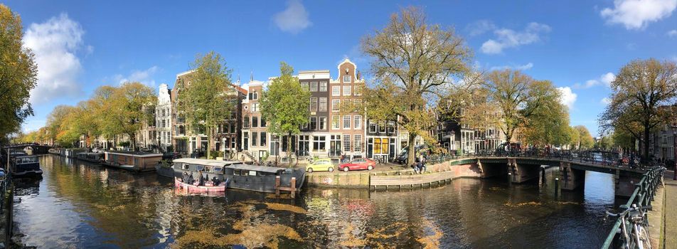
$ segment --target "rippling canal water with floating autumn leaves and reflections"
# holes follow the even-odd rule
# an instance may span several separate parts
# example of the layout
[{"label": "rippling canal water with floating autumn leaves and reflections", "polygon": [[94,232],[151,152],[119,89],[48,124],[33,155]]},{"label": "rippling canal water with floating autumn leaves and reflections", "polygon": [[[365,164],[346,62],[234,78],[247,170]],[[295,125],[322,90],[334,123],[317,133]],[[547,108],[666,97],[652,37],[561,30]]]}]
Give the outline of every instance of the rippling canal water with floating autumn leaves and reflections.
[{"label": "rippling canal water with floating autumn leaves and reflections", "polygon": [[183,196],[171,179],[41,157],[16,187],[14,240],[38,248],[599,248],[613,225],[611,175],[555,197],[538,181],[457,179],[433,189],[306,188],[296,199]]}]

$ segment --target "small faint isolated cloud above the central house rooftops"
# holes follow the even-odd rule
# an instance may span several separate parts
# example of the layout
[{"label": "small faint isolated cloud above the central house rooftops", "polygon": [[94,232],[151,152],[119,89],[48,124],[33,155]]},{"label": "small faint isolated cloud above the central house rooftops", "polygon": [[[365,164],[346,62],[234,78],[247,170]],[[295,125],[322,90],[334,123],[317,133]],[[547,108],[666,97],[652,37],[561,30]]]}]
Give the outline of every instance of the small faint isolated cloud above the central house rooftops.
[{"label": "small faint isolated cloud above the central house rooftops", "polygon": [[308,19],[308,11],[301,4],[301,0],[287,1],[287,9],[273,16],[273,21],[279,29],[289,33],[299,33],[313,25]]}]

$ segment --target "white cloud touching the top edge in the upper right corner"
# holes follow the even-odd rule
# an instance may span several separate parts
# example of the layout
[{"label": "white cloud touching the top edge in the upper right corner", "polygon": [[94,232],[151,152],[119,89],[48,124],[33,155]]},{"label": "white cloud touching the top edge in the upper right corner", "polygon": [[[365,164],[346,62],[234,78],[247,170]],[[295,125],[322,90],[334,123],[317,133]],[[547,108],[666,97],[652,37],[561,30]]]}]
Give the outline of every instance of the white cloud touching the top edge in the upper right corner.
[{"label": "white cloud touching the top edge in the upper right corner", "polygon": [[670,16],[676,8],[677,0],[614,0],[614,9],[604,8],[599,14],[607,23],[641,29],[652,21]]}]

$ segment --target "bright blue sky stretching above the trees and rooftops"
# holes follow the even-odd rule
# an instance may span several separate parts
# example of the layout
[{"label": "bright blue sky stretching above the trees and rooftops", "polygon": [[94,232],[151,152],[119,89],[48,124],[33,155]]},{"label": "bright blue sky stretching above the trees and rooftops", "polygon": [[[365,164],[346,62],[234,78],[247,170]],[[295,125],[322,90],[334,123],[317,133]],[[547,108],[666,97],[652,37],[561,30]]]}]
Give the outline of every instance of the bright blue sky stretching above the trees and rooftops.
[{"label": "bright blue sky stretching above the trees and rooftops", "polygon": [[[677,60],[677,0],[602,1],[9,1],[36,53],[38,129],[55,105],[75,105],[100,85],[174,85],[197,53],[216,51],[233,80],[329,69],[351,58],[368,70],[361,37],[390,14],[420,6],[453,27],[483,70],[518,68],[565,93],[571,124],[597,134],[607,83],[637,58]],[[334,76],[335,77],[335,76]]]}]

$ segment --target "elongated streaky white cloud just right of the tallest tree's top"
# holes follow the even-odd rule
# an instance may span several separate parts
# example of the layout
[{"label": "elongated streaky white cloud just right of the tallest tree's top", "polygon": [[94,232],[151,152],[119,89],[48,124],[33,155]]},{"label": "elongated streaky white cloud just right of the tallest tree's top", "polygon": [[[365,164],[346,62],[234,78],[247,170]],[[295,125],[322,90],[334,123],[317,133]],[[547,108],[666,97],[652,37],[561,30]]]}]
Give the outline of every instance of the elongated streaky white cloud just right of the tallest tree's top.
[{"label": "elongated streaky white cloud just right of the tallest tree's top", "polygon": [[543,33],[550,32],[548,25],[541,23],[529,23],[523,31],[513,31],[508,28],[501,28],[494,31],[496,40],[489,39],[482,43],[482,53],[495,54],[503,52],[504,48],[514,48],[540,41]]}]

